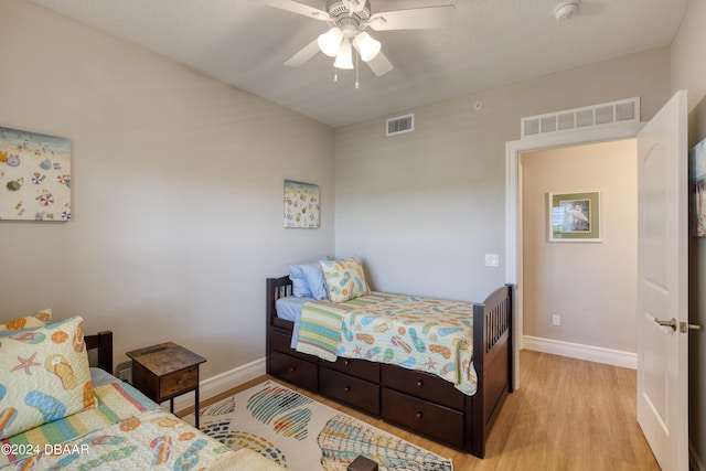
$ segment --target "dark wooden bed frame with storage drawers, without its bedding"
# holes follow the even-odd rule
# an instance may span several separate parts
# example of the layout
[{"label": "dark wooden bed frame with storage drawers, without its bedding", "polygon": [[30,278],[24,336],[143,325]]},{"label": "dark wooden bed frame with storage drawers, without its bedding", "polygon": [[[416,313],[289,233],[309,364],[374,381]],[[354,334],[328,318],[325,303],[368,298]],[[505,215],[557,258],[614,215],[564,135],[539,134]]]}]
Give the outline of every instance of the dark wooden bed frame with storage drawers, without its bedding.
[{"label": "dark wooden bed frame with storage drawers, without its bedding", "polygon": [[289,277],[267,279],[267,373],[376,418],[478,458],[512,393],[513,286],[473,304],[473,365],[478,392],[466,396],[429,373],[365,360],[319,360],[290,347],[293,322],[277,317],[275,302],[291,296]]}]

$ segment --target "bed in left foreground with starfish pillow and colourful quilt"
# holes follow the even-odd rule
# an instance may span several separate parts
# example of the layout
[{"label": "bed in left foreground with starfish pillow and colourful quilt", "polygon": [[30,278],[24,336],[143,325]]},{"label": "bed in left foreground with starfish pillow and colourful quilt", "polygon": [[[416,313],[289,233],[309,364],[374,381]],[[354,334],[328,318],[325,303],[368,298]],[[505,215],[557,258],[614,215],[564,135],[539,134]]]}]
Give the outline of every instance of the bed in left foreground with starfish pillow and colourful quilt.
[{"label": "bed in left foreground with starfish pillow and colourful quilt", "polygon": [[[111,332],[84,338],[81,317],[45,324],[50,318],[45,310],[0,330],[0,469],[280,469],[110,375]],[[88,366],[93,349],[99,368]]]}]

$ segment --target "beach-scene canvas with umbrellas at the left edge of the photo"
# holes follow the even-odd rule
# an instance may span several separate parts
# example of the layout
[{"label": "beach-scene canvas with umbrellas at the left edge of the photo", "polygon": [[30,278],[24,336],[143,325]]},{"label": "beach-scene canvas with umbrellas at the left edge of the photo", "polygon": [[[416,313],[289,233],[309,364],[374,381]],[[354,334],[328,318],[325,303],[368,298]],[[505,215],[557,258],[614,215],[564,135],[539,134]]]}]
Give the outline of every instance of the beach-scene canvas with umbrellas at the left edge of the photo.
[{"label": "beach-scene canvas with umbrellas at the left edge of the photo", "polygon": [[0,220],[71,220],[71,140],[0,127]]}]

